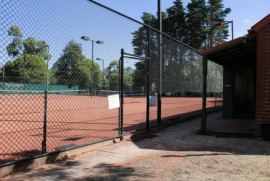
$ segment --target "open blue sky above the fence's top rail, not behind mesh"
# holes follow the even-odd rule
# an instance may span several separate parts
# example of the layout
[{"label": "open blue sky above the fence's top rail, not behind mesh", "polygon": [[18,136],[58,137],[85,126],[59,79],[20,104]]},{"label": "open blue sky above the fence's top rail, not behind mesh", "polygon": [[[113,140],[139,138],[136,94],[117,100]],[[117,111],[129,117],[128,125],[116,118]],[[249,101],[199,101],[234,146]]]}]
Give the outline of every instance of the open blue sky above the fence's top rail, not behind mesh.
[{"label": "open blue sky above the fence's top rail, not behind mesh", "polygon": [[[173,5],[174,0],[161,0],[162,11]],[[207,0],[206,0],[207,1]],[[96,0],[137,21],[141,21],[142,12],[156,14],[157,0]],[[190,0],[182,0],[186,6]],[[233,38],[247,34],[247,29],[270,13],[270,0],[223,0],[225,8],[231,8],[226,21],[233,20]],[[231,40],[231,24],[229,24],[228,40]]]}]

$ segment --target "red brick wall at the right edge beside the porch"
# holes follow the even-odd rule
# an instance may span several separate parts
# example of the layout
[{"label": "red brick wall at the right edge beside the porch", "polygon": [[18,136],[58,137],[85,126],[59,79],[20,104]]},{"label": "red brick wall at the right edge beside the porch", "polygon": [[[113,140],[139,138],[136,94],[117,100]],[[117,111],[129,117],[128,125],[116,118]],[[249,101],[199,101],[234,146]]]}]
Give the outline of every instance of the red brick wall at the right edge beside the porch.
[{"label": "red brick wall at the right edge beside the porch", "polygon": [[261,123],[270,123],[270,24],[257,32],[255,135],[261,134]]}]

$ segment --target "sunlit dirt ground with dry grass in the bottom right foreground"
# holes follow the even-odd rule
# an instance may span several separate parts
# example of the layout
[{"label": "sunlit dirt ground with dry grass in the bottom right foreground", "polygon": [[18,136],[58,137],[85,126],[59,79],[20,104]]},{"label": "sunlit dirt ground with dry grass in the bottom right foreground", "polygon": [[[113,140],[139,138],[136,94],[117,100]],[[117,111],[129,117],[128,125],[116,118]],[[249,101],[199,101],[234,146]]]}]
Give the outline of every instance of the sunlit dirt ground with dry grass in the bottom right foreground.
[{"label": "sunlit dirt ground with dry grass in the bottom right foreground", "polygon": [[[219,149],[219,150],[218,150]],[[217,148],[214,152],[162,151],[114,165],[83,181],[270,180],[270,156],[264,152]]]}]

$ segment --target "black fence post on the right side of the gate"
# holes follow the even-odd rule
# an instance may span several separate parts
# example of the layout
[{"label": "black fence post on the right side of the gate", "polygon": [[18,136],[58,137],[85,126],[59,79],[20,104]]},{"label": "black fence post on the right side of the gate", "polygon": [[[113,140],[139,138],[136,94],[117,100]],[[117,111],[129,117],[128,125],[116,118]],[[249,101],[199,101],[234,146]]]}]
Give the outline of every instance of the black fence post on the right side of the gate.
[{"label": "black fence post on the right side of the gate", "polygon": [[149,112],[150,112],[150,28],[148,28],[148,61],[147,61],[147,106],[146,106],[146,129],[149,133]]}]

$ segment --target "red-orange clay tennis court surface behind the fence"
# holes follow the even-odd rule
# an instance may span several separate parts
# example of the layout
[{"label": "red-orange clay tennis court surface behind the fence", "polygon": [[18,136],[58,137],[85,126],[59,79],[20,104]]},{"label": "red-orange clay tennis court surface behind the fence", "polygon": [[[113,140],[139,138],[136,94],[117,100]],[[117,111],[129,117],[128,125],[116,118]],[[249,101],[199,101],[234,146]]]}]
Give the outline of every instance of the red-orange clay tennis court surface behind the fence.
[{"label": "red-orange clay tennis court surface behind the fence", "polygon": [[[146,129],[146,96],[124,102],[124,133]],[[222,98],[207,98],[208,110],[215,102],[222,106]],[[202,98],[162,97],[161,108],[162,118],[184,118],[201,113]],[[0,110],[0,164],[41,154],[44,94],[2,94]],[[150,127],[156,117],[157,107],[150,107]],[[106,96],[48,94],[46,151],[118,136],[118,124],[118,108],[109,110]]]}]

